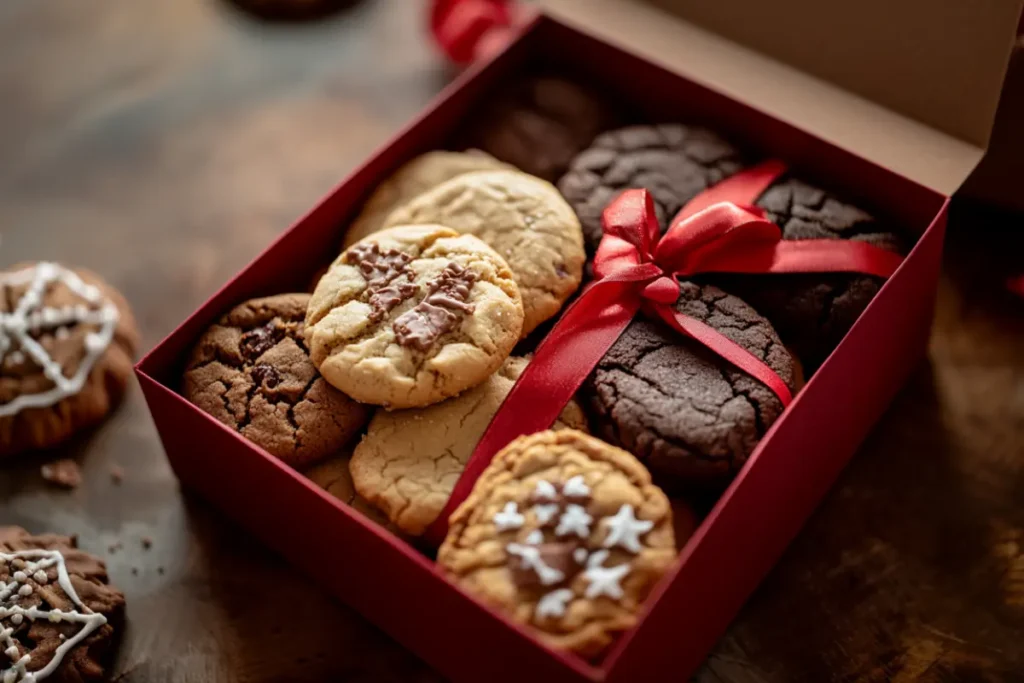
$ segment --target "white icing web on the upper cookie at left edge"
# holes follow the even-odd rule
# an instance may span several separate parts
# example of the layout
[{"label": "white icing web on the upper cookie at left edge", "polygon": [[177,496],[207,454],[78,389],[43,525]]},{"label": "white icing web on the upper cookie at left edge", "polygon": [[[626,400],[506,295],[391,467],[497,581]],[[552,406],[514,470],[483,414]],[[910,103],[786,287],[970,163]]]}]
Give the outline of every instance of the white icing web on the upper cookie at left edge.
[{"label": "white icing web on the upper cookie at left edge", "polygon": [[[62,284],[83,299],[102,305],[98,309],[83,304],[59,309],[39,309],[46,289],[54,283]],[[113,303],[102,301],[102,296],[95,287],[86,285],[77,273],[55,263],[37,263],[35,266],[0,275],[0,286],[26,285],[29,289],[22,295],[14,310],[10,313],[0,313],[0,361],[16,342],[18,348],[10,351],[11,360],[18,362],[15,360],[18,357],[15,354],[28,355],[42,369],[43,374],[53,382],[54,386],[39,393],[15,396],[13,400],[0,405],[0,417],[16,415],[26,408],[46,408],[81,391],[96,359],[111,345],[118,322],[117,308]],[[65,377],[60,364],[53,360],[42,344],[32,336],[56,328],[57,337],[60,338],[60,330],[66,325],[98,327],[96,332],[86,336],[85,355],[73,377]]]}]

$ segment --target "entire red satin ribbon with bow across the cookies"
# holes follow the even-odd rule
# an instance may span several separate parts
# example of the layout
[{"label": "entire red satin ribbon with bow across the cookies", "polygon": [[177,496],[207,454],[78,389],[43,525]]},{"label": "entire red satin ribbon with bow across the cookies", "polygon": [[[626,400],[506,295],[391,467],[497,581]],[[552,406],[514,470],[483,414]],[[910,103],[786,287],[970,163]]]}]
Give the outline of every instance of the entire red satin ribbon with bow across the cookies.
[{"label": "entire red satin ribbon with bow across the cookies", "polygon": [[594,257],[596,282],[565,309],[538,347],[477,444],[437,520],[427,530],[439,543],[447,519],[469,495],[495,454],[523,434],[549,428],[620,335],[643,310],[767,385],[787,405],[785,382],[767,365],[714,328],[674,308],[678,279],[707,272],[860,272],[891,275],[897,254],[840,240],[786,242],[753,204],[785,172],[779,162],[746,169],[709,188],[659,237],[654,204],[629,189],[602,215],[604,237]]}]

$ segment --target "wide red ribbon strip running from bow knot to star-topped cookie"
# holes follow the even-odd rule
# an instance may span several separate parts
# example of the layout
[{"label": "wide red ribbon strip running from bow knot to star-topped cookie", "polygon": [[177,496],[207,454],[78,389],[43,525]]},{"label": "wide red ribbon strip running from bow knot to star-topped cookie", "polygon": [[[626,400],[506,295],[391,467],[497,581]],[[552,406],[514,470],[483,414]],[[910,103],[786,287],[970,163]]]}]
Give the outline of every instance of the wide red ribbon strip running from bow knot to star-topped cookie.
[{"label": "wide red ribbon strip running from bow knot to star-topped cookie", "polygon": [[634,283],[599,281],[565,310],[483,432],[444,509],[427,528],[428,542],[440,545],[449,517],[499,451],[554,424],[639,309]]}]

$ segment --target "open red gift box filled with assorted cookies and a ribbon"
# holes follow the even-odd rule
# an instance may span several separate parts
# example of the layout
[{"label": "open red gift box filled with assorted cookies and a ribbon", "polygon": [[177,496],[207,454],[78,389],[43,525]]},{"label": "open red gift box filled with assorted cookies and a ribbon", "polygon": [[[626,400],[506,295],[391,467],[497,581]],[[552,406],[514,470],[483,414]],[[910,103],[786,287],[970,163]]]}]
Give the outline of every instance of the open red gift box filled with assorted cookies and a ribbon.
[{"label": "open red gift box filled with assorted cookies and a ribbon", "polygon": [[186,486],[454,680],[685,678],[926,348],[1019,3],[959,123],[683,4],[527,10],[137,368]]}]

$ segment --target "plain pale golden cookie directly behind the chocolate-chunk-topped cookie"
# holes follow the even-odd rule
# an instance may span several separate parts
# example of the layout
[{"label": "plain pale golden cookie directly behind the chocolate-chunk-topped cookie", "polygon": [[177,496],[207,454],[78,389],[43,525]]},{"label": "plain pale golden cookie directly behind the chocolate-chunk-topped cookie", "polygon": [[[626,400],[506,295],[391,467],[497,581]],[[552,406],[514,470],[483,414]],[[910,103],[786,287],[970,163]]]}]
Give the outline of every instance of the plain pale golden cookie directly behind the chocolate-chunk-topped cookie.
[{"label": "plain pale golden cookie directly behind the chocolate-chunk-topped cookie", "polygon": [[580,287],[580,220],[554,185],[518,171],[464,173],[395,209],[386,225],[439,223],[475,234],[508,261],[522,295],[523,336]]}]

